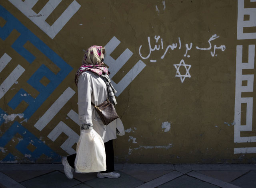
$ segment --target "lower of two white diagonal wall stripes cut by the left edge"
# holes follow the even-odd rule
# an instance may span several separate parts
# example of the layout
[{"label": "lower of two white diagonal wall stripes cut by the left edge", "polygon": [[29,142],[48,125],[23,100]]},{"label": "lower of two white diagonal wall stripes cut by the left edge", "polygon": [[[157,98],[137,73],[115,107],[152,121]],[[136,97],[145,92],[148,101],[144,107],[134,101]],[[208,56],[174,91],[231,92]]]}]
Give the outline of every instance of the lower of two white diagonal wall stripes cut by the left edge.
[{"label": "lower of two white diagonal wall stripes cut by the left edge", "polygon": [[25,69],[18,65],[9,76],[0,85],[0,98],[6,94],[6,92],[12,87],[12,85],[18,80],[18,78],[23,74]]}]

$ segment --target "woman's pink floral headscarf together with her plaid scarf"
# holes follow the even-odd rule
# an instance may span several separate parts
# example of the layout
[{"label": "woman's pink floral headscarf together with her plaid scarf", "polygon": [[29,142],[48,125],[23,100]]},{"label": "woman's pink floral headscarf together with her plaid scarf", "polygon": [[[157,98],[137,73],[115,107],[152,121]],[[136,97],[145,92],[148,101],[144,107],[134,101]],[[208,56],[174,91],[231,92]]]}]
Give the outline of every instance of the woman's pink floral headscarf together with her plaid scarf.
[{"label": "woman's pink floral headscarf together with her plaid scarf", "polygon": [[117,104],[115,93],[117,92],[114,87],[112,86],[111,80],[109,78],[110,72],[106,66],[100,66],[101,59],[103,58],[102,55],[102,46],[91,46],[84,54],[83,58],[83,65],[76,71],[75,75],[75,84],[78,84],[78,78],[84,71],[91,71],[95,74],[98,74],[100,77],[103,78],[107,89],[108,89],[108,99],[114,105]]}]

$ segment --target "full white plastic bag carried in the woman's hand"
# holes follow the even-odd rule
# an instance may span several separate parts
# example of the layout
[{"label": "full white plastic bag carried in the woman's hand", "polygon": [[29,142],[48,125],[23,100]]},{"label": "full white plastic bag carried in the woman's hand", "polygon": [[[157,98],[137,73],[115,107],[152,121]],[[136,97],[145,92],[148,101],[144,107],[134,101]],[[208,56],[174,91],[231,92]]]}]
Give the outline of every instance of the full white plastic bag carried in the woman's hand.
[{"label": "full white plastic bag carried in the woman's hand", "polygon": [[82,130],[76,145],[75,172],[106,170],[106,153],[102,138],[94,129]]}]

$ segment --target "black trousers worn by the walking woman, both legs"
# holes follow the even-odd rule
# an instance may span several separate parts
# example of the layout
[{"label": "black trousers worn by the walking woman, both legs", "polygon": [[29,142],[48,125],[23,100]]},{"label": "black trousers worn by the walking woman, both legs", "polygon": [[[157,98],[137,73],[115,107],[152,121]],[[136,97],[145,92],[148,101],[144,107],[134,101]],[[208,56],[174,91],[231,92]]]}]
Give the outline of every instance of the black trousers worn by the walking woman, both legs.
[{"label": "black trousers worn by the walking woman, both legs", "polygon": [[[110,140],[106,143],[104,143],[105,146],[105,153],[106,153],[106,166],[107,170],[103,171],[102,173],[108,173],[113,172],[114,169],[114,148],[113,148],[113,140]],[[72,168],[75,168],[75,159],[76,159],[76,153],[73,155],[69,155],[67,157],[68,164],[72,166]]]}]

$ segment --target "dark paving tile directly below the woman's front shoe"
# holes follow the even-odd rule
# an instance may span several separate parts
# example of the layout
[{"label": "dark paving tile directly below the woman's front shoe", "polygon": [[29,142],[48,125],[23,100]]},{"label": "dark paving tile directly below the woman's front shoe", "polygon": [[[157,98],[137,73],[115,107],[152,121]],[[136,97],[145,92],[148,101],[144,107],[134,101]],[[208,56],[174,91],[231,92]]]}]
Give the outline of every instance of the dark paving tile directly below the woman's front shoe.
[{"label": "dark paving tile directly below the woman's front shoe", "polygon": [[[118,171],[120,172],[120,171]],[[96,178],[93,180],[89,180],[87,182],[84,182],[84,184],[89,185],[91,187],[95,188],[134,188],[136,186],[139,186],[140,184],[143,184],[143,181],[138,180],[132,176],[129,176],[128,174],[125,174],[123,172],[120,172],[121,177],[116,179],[111,178]]]}]

